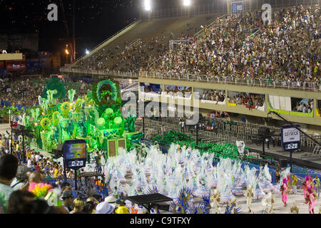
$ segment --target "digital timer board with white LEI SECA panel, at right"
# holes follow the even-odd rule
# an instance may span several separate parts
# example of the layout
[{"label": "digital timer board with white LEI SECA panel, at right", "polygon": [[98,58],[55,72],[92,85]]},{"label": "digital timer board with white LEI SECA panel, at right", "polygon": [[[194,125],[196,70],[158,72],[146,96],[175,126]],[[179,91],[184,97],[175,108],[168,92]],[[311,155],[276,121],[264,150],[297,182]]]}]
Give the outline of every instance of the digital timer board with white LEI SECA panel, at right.
[{"label": "digital timer board with white LEI SECA panel, at right", "polygon": [[[295,125],[300,129],[300,125]],[[282,126],[281,128],[281,143],[282,150],[298,150],[300,149],[301,133],[297,128],[290,125]]]}]

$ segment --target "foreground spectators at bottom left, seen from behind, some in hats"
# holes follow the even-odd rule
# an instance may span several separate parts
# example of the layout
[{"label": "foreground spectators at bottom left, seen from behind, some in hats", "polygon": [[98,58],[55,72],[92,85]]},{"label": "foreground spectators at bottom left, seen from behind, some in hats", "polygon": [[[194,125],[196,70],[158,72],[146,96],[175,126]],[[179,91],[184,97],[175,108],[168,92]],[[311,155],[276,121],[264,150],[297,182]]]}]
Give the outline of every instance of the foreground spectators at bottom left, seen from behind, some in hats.
[{"label": "foreground spectators at bottom left, seen from behind, some in hats", "polygon": [[[89,190],[86,195],[80,195],[79,192],[77,195],[70,182],[63,182],[61,179],[55,184],[49,183],[49,177],[46,175],[49,175],[51,170],[54,170],[52,175],[59,180],[61,175],[59,164],[44,159],[38,153],[34,154],[32,161],[27,165],[19,164],[19,159],[14,155],[0,156],[0,214],[150,213],[141,205],[126,201],[121,192],[114,192],[113,196],[105,198]],[[44,165],[42,171],[41,164]],[[36,169],[34,169],[35,165]],[[101,185],[99,180],[96,181],[97,183]],[[53,203],[51,199],[47,199],[50,194],[54,195]],[[157,208],[152,209],[152,212],[159,213]]]}]

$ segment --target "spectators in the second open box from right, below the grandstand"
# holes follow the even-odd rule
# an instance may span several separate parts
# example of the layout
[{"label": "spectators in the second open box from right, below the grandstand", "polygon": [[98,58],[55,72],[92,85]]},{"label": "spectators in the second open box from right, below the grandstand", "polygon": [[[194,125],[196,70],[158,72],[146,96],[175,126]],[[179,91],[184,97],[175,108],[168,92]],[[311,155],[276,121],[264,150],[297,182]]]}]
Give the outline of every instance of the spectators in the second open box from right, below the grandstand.
[{"label": "spectators in the second open box from right, below the grandstand", "polygon": [[228,97],[230,103],[237,105],[250,105],[250,107],[263,107],[265,104],[265,95],[255,94],[255,93],[238,93],[233,97]]}]

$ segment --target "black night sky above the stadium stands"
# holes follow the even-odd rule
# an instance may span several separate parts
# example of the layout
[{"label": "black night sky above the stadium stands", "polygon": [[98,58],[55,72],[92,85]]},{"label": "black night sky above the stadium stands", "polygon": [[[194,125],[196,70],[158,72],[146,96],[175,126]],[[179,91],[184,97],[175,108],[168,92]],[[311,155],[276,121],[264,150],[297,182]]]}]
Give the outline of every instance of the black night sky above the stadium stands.
[{"label": "black night sky above the stadium stands", "polygon": [[[183,0],[151,0],[153,8],[181,5]],[[193,0],[203,4],[213,0]],[[51,3],[58,21],[48,21]],[[76,0],[78,56],[139,18],[143,0]],[[73,0],[0,0],[0,33],[39,33],[39,51],[61,51],[73,36]]]}]

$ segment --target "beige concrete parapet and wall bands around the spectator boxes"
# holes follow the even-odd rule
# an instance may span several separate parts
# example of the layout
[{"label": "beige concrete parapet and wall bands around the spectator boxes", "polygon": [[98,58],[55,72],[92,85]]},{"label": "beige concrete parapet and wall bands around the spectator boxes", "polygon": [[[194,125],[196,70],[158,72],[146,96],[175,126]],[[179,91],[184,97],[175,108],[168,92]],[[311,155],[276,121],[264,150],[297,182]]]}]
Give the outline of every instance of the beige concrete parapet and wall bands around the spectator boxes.
[{"label": "beige concrete parapet and wall bands around the spectator boxes", "polygon": [[[288,90],[288,89],[277,89],[277,88],[263,88],[263,87],[252,87],[252,86],[237,86],[237,85],[226,85],[226,84],[214,84],[214,83],[205,83],[205,82],[195,82],[195,81],[177,81],[177,80],[163,80],[158,78],[139,78],[141,83],[154,83],[160,85],[172,85],[172,86],[185,86],[192,88],[208,88],[213,90],[225,90],[226,94],[228,91],[238,91],[245,93],[260,93],[265,94],[265,100],[267,101],[268,95],[281,95],[281,96],[290,96],[294,98],[313,98],[315,100],[320,100],[321,93],[319,91],[312,92],[307,90]],[[141,97],[140,97],[141,98]],[[152,98],[145,98],[146,100],[153,100]],[[175,103],[178,104],[178,100],[171,100],[169,98],[161,98],[162,102],[165,103]],[[195,100],[190,101],[190,105],[194,106]],[[267,102],[265,102],[267,103]],[[228,113],[238,113],[239,115],[233,116],[236,120],[242,120],[245,117],[247,120],[251,120],[255,123],[260,123],[264,125],[282,125],[281,119],[276,115],[269,115],[272,118],[271,121],[268,121],[267,114],[269,113],[267,104],[265,104],[265,111],[260,110],[249,110],[245,105],[237,105],[236,107],[230,107],[228,103],[225,105],[215,105],[211,103],[199,103],[199,108],[201,110],[220,110]],[[316,108],[317,105],[314,105]],[[208,113],[206,112],[206,113]],[[314,110],[315,112],[315,110]],[[315,114],[315,113],[314,113]],[[297,115],[282,115],[287,120],[293,123],[300,123],[302,128],[304,128],[308,133],[321,133],[321,118],[314,115],[313,118],[297,116]],[[283,123],[284,124],[284,123]]]}]

